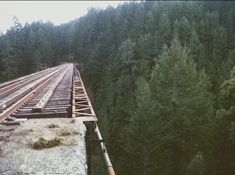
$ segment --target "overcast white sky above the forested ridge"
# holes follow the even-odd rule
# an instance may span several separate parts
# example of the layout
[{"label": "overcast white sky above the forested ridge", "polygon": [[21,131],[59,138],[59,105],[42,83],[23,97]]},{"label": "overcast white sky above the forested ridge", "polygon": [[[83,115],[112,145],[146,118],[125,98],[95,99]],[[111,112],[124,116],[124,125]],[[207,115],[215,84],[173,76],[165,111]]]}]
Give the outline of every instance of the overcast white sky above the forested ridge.
[{"label": "overcast white sky above the forested ridge", "polygon": [[90,7],[116,7],[122,1],[0,1],[0,32],[13,25],[13,16],[25,24],[33,21],[51,21],[54,24],[69,22],[87,13]]}]

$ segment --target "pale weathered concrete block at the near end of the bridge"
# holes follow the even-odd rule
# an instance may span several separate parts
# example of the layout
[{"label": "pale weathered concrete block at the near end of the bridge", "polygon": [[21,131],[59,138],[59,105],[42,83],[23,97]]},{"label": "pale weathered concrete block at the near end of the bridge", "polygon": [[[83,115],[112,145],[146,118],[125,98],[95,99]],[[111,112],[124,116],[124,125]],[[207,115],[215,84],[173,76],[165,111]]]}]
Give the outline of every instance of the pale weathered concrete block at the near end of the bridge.
[{"label": "pale weathered concrete block at the near end of the bridge", "polygon": [[[86,128],[78,118],[32,119],[13,129],[0,126],[1,175],[87,174]],[[34,147],[40,138],[59,144]]]}]

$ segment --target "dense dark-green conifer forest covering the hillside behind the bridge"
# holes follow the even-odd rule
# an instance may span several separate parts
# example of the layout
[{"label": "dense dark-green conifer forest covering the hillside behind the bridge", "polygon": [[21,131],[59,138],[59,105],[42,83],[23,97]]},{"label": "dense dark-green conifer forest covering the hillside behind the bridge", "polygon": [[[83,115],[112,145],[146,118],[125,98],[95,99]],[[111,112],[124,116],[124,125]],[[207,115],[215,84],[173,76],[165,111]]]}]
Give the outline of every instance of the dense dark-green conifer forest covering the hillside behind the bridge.
[{"label": "dense dark-green conifer forest covering the hillside behind the bridge", "polygon": [[14,21],[0,36],[0,82],[78,63],[117,174],[235,174],[235,2],[124,2],[59,26]]}]

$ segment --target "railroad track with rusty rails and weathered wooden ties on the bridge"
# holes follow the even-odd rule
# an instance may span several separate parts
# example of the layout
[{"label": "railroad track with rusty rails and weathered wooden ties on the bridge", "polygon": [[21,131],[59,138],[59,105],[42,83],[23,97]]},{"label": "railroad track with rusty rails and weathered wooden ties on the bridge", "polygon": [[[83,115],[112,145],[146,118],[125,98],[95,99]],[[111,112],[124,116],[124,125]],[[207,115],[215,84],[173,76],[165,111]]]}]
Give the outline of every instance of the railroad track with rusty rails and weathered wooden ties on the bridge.
[{"label": "railroad track with rusty rails and weathered wooden ties on the bridge", "polygon": [[0,84],[0,122],[14,123],[7,121],[12,117],[66,117],[72,73],[73,65],[64,64]]}]

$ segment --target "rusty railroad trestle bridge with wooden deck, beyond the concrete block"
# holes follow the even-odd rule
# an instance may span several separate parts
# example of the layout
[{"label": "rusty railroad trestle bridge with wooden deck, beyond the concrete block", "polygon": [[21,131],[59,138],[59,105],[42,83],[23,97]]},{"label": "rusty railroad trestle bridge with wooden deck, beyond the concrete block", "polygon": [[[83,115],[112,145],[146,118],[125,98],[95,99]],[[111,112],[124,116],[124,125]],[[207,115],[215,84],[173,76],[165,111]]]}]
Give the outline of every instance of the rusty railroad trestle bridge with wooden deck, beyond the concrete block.
[{"label": "rusty railroad trestle bridge with wooden deck, beyond the concrete block", "polygon": [[[5,133],[10,130],[11,135],[9,134],[7,137],[13,136],[17,127],[20,128],[30,120],[46,121],[51,118],[78,119],[86,126],[84,135],[86,143],[82,146],[86,150],[86,173],[88,175],[91,174],[93,135],[96,135],[99,141],[107,174],[115,174],[97,124],[98,119],[81,75],[74,64],[62,64],[0,84],[0,122],[5,127],[0,128],[0,132]],[[9,129],[11,126],[16,127]],[[36,127],[40,127],[40,125]],[[2,140],[2,144],[4,144],[4,138]],[[1,149],[0,137],[0,151]],[[10,171],[9,168],[8,171]],[[73,172],[73,174],[79,173]]]}]

